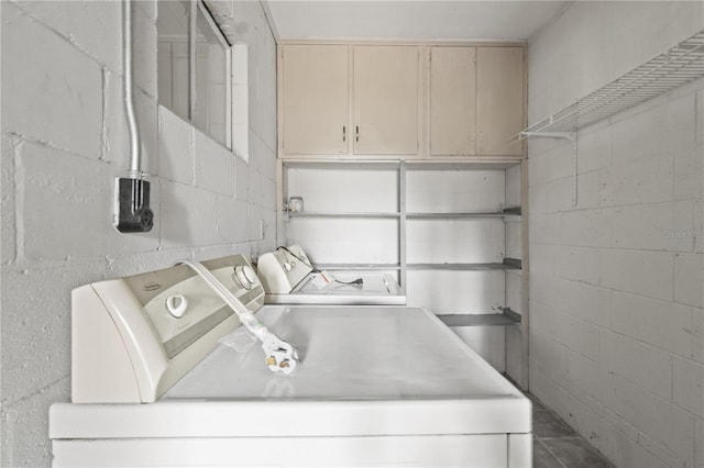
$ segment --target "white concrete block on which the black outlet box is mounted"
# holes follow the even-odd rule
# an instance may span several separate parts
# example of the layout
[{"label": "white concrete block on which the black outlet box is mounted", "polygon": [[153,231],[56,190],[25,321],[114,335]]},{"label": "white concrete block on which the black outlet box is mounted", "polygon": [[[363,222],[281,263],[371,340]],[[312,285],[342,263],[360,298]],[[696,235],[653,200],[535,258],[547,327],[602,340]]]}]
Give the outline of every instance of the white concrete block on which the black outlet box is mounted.
[{"label": "white concrete block on which the black outlet box is mounted", "polygon": [[[158,216],[148,233],[125,236],[114,229],[117,175],[111,165],[28,143],[21,147],[18,169],[23,197],[18,225],[25,258],[101,257],[158,246]],[[158,213],[158,183],[151,186],[151,205]]]}]

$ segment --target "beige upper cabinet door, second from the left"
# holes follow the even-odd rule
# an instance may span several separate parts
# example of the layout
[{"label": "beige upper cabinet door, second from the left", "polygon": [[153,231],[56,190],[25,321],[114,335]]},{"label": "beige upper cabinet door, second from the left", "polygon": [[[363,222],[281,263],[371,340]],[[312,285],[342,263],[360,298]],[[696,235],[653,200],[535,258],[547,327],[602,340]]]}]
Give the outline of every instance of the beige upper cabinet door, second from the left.
[{"label": "beige upper cabinet door, second from the left", "polygon": [[354,47],[354,154],[418,154],[419,48]]}]

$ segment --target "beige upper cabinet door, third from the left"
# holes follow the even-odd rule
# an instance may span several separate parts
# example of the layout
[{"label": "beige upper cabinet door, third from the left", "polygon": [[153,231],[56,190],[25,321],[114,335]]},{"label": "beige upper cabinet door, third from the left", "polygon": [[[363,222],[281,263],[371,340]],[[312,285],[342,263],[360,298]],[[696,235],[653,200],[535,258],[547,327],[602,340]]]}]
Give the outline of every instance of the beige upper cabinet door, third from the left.
[{"label": "beige upper cabinet door, third from the left", "polygon": [[430,49],[430,155],[475,153],[476,47]]}]

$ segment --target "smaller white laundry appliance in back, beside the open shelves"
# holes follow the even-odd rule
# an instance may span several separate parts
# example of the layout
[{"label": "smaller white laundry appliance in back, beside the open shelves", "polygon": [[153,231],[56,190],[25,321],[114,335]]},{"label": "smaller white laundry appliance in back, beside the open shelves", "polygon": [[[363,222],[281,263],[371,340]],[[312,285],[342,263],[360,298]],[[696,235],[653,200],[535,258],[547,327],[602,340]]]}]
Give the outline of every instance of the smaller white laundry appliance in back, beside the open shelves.
[{"label": "smaller white laundry appliance in back, beside the open shelves", "polygon": [[299,245],[261,255],[257,274],[266,304],[406,305],[406,292],[393,276],[320,271]]}]

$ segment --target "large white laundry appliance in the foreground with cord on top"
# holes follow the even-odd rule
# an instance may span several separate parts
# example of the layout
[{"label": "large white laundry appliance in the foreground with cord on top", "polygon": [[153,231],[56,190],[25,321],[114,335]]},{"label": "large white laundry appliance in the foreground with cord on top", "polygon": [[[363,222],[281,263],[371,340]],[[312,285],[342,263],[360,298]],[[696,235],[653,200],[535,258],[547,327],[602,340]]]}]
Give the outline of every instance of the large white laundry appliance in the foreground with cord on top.
[{"label": "large white laundry appliance in the foreground with cord on top", "polygon": [[[50,410],[54,466],[531,465],[530,401],[433,314],[261,307],[243,257],[202,265],[74,291],[73,402]],[[268,336],[262,347],[240,320]],[[297,359],[293,372],[277,352]]]}]

